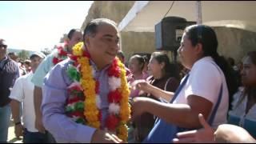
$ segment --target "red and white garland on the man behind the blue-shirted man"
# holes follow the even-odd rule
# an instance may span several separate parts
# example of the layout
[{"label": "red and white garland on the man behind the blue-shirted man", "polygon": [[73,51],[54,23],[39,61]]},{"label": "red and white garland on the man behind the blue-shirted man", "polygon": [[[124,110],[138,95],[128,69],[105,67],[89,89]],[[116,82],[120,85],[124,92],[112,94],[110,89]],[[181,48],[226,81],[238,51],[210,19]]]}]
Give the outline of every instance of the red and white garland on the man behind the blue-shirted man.
[{"label": "red and white garland on the man behind the blue-shirted man", "polygon": [[64,42],[63,46],[57,46],[58,54],[53,58],[53,64],[56,65],[58,62],[62,62],[67,58],[67,43]]}]

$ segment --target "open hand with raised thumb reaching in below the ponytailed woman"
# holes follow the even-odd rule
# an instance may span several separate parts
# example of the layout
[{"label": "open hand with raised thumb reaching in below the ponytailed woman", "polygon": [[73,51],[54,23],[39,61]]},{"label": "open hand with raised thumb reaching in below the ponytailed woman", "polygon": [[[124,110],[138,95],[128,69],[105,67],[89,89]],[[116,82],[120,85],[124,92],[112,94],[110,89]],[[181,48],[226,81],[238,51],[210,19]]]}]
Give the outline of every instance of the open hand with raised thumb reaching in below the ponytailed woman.
[{"label": "open hand with raised thumb reaching in below the ponytailed woman", "polygon": [[200,123],[203,129],[190,130],[177,134],[178,138],[174,138],[174,143],[187,143],[187,142],[214,142],[214,129],[206,122],[202,114],[198,114]]}]

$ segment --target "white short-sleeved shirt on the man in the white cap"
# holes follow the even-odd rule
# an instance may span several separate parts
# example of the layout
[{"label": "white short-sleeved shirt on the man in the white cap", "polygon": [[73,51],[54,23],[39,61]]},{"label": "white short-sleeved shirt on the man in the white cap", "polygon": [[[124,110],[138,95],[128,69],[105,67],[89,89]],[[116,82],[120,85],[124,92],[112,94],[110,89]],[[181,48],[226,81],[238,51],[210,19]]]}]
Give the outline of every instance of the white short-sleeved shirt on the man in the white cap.
[{"label": "white short-sleeved shirt on the man in the white cap", "polygon": [[31,82],[32,77],[32,72],[19,77],[10,92],[10,98],[23,102],[22,122],[24,127],[30,132],[38,132],[34,127],[34,84]]}]

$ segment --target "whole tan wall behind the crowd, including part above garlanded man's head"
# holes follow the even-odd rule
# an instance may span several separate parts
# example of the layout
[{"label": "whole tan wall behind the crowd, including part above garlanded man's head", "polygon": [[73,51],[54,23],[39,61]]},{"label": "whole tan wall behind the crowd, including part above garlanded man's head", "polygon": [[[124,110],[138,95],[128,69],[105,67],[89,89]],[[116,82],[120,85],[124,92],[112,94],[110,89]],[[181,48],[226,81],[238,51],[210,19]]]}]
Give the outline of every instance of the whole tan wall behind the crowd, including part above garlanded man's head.
[{"label": "whole tan wall behind the crowd, including part above garlanded man's head", "polygon": [[[125,17],[134,1],[97,1],[90,7],[85,22],[82,24],[82,30],[86,23],[94,18],[110,18],[119,23]],[[256,50],[256,33],[228,28],[214,27],[218,37],[218,52],[225,57],[232,57],[236,62],[250,50]],[[121,33],[122,51],[126,60],[134,53],[152,53],[155,51],[154,33]]]}]

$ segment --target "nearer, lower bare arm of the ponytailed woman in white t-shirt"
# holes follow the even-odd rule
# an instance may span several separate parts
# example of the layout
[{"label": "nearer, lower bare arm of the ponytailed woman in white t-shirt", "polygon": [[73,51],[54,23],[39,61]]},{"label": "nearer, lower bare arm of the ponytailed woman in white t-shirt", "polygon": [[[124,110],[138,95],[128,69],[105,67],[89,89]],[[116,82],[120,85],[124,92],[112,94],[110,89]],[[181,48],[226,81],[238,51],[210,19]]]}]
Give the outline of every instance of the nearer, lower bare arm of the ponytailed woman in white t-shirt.
[{"label": "nearer, lower bare arm of the ponytailed woman in white t-shirt", "polygon": [[213,104],[196,95],[188,96],[188,104],[170,104],[157,102],[150,98],[134,98],[132,104],[132,120],[138,115],[148,112],[166,122],[185,128],[199,128],[201,124],[198,114],[208,118]]}]

